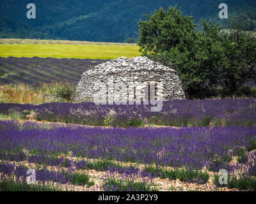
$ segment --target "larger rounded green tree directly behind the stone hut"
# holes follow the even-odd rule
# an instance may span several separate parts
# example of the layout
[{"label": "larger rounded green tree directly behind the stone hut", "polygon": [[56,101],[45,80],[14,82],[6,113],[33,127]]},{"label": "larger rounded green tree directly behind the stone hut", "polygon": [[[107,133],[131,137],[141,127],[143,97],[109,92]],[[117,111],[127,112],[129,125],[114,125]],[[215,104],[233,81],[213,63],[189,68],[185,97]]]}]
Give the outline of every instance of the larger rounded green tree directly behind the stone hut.
[{"label": "larger rounded green tree directly behind the stone hut", "polygon": [[202,22],[204,31],[196,32],[193,17],[182,15],[177,6],[160,8],[139,22],[140,52],[175,68],[188,98],[211,96],[224,53],[220,27]]}]

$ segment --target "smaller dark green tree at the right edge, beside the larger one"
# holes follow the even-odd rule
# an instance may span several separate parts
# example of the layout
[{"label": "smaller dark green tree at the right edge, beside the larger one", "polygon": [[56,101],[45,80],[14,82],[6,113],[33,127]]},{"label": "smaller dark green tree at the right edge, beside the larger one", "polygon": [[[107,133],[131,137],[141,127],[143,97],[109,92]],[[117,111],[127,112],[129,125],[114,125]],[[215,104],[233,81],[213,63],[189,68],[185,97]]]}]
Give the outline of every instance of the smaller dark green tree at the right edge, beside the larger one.
[{"label": "smaller dark green tree at the right edge, beside the larger one", "polygon": [[[226,96],[241,94],[248,80],[256,82],[256,38],[241,25],[223,33],[225,56],[220,68],[220,84]],[[239,93],[240,92],[240,93]],[[246,94],[246,93],[245,93]]]}]

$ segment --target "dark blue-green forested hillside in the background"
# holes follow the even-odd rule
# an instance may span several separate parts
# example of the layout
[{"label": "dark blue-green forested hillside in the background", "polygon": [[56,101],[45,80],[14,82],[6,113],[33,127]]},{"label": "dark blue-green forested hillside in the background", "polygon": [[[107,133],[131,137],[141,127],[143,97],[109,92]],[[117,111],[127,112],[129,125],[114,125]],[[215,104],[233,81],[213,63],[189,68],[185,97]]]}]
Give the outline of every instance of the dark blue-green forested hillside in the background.
[{"label": "dark blue-green forested hillside in the background", "polygon": [[[28,19],[26,5],[36,5],[36,19]],[[228,19],[218,18],[218,5],[228,5]],[[200,18],[228,28],[238,20],[256,31],[256,1],[252,0],[1,0],[0,38],[40,38],[132,43],[138,39],[138,22],[161,6],[178,5],[184,15],[193,15],[198,29]]]}]

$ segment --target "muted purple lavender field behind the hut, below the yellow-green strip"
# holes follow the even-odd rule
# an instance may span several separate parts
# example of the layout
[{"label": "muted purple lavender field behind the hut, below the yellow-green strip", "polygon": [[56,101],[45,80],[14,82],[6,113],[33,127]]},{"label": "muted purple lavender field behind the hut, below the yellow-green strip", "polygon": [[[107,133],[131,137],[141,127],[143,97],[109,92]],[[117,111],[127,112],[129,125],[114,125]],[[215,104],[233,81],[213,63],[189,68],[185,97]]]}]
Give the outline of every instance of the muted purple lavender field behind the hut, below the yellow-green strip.
[{"label": "muted purple lavender field behind the hut, below the yellow-green strip", "polygon": [[0,85],[22,83],[35,86],[58,81],[77,84],[86,69],[105,61],[52,57],[0,57]]}]

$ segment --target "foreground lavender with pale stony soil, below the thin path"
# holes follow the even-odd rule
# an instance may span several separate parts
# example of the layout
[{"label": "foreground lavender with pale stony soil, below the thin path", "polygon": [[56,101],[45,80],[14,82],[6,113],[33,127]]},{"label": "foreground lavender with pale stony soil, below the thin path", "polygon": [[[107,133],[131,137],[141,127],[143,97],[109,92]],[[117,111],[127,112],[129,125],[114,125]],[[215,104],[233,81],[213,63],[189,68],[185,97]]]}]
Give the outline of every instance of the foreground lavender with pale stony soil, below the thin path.
[{"label": "foreground lavender with pale stony soil, below the thin path", "polygon": [[[39,190],[255,190],[255,127],[121,129],[18,120],[0,127],[5,184],[28,188],[26,171],[33,168]],[[220,168],[232,176],[228,186],[216,182]],[[176,189],[177,182],[185,187]]]}]

